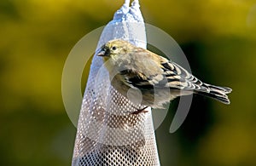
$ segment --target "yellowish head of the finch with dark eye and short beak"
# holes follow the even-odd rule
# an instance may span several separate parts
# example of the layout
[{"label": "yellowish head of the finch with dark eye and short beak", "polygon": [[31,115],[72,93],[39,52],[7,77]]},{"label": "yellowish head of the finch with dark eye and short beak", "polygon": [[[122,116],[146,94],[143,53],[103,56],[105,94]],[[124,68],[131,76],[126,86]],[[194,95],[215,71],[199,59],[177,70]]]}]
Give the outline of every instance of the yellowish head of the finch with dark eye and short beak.
[{"label": "yellowish head of the finch with dark eye and short beak", "polygon": [[105,43],[96,54],[98,56],[102,56],[104,60],[118,60],[120,56],[124,55],[128,51],[130,45],[131,43],[124,40],[114,39]]}]

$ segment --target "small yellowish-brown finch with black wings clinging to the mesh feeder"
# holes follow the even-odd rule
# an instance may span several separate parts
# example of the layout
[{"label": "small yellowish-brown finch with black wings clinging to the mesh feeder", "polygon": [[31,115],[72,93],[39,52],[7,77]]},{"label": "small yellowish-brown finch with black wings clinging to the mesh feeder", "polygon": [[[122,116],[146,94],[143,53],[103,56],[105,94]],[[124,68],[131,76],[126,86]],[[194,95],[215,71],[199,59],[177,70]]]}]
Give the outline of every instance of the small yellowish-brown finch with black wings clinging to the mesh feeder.
[{"label": "small yellowish-brown finch with black wings clinging to the mesh feeder", "polygon": [[230,104],[227,94],[232,89],[203,83],[174,61],[123,39],[108,41],[96,50],[96,55],[102,57],[111,84],[120,94],[127,97],[129,89],[141,92],[140,104],[145,107],[134,114],[145,112],[148,106],[165,108],[167,102],[189,94],[202,94]]}]

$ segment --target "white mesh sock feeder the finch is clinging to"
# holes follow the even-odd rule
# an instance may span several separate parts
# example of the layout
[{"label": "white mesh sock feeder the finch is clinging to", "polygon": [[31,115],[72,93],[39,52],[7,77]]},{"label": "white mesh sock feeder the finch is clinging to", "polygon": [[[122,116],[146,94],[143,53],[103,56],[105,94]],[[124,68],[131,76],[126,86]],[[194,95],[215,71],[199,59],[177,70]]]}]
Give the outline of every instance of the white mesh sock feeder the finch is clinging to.
[{"label": "white mesh sock feeder the finch is clinging to", "polygon": [[[123,38],[146,48],[146,32],[139,3],[130,1],[114,14],[97,44]],[[101,57],[94,56],[79,115],[73,166],[160,165],[151,109],[133,104],[113,89]]]}]

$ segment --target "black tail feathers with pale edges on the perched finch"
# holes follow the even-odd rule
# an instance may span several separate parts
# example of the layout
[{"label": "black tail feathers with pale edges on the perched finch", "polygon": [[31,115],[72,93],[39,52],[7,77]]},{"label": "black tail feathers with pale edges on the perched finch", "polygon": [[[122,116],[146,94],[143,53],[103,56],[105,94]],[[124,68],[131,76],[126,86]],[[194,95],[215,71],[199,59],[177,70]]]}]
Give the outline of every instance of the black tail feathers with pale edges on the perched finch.
[{"label": "black tail feathers with pale edges on the perched finch", "polygon": [[230,94],[232,89],[230,89],[228,87],[218,87],[218,86],[207,84],[207,83],[204,83],[203,85],[207,89],[209,89],[209,91],[197,91],[196,92],[197,94],[206,95],[206,96],[211,97],[212,99],[218,100],[226,105],[230,104],[230,100],[229,100],[229,97],[227,94]]}]

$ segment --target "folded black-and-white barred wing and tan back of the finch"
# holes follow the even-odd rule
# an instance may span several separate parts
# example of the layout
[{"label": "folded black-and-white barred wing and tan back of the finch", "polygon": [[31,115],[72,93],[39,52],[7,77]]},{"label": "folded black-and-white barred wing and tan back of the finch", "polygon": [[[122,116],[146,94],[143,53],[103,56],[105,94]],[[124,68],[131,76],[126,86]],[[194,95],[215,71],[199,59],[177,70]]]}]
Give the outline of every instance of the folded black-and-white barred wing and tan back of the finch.
[{"label": "folded black-and-white barred wing and tan back of the finch", "polygon": [[209,92],[210,89],[182,66],[146,49],[134,50],[134,68],[127,68],[120,74],[129,86],[138,89],[170,88]]}]

